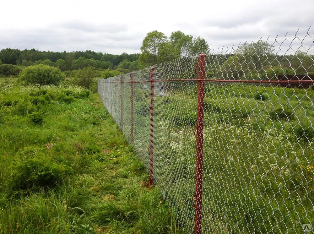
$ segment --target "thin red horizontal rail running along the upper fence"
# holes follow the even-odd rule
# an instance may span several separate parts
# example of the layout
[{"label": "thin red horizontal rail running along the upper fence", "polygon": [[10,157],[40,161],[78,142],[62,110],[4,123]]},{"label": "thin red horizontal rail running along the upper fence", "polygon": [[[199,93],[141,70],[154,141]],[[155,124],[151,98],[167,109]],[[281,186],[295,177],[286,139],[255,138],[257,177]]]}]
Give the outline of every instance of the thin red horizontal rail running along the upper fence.
[{"label": "thin red horizontal rail running along the upper fence", "polygon": [[[167,81],[206,81],[206,82],[225,82],[225,83],[314,83],[314,80],[215,80],[215,79],[166,79],[166,80],[143,80],[143,81],[133,81],[133,82],[123,82],[123,83],[148,83],[148,82],[167,82]],[[109,81],[103,83],[117,83],[116,81]]]}]

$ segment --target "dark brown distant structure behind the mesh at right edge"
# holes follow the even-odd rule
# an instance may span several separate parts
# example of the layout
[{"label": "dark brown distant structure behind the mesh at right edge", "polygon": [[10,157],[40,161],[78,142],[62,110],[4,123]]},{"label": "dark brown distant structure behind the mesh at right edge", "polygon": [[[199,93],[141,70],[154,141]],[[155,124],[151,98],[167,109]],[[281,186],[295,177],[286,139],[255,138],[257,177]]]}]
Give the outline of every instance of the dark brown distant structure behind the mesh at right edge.
[{"label": "dark brown distant structure behind the mesh at right edge", "polygon": [[282,83],[280,82],[279,85],[281,87],[288,87],[288,88],[298,88],[298,89],[308,89],[310,87],[313,88],[313,82],[302,82],[306,80],[314,80],[314,75],[278,75],[278,80],[289,80],[289,81],[300,81],[300,82],[291,82],[291,83]]}]

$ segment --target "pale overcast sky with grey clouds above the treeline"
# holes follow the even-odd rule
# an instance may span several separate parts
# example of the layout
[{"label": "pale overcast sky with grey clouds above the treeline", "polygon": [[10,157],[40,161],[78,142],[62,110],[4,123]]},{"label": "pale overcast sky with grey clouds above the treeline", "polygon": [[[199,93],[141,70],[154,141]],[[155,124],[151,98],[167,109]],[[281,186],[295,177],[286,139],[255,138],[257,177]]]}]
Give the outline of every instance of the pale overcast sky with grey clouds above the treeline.
[{"label": "pale overcast sky with grey clouds above the treeline", "polygon": [[[277,34],[282,41],[298,29],[303,39],[314,24],[314,0],[3,0],[0,8],[0,49],[135,53],[148,32],[181,30],[217,50]],[[314,25],[310,32],[314,37]]]}]

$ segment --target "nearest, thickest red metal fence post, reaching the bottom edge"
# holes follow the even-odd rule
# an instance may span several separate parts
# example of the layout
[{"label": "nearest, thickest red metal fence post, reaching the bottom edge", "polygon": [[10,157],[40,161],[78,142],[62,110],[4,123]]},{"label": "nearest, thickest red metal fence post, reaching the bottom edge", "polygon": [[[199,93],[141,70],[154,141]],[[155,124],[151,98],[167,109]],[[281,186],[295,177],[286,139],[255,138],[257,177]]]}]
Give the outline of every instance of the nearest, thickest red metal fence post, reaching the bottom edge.
[{"label": "nearest, thickest red metal fence post, reaching the bottom edge", "polygon": [[202,188],[203,188],[203,130],[204,130],[204,96],[206,54],[198,57],[198,105],[196,128],[196,186],[195,186],[195,226],[194,233],[201,233],[202,221]]}]

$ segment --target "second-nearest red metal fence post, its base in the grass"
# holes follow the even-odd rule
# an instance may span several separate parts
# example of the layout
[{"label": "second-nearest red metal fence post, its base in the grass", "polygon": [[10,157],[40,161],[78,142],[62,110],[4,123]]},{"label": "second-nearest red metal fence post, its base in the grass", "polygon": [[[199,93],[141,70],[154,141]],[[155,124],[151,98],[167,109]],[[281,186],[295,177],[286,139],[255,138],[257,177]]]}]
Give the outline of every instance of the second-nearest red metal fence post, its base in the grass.
[{"label": "second-nearest red metal fence post, its base in the grass", "polygon": [[153,184],[154,160],[154,67],[150,68],[150,146],[149,146],[149,184]]}]

